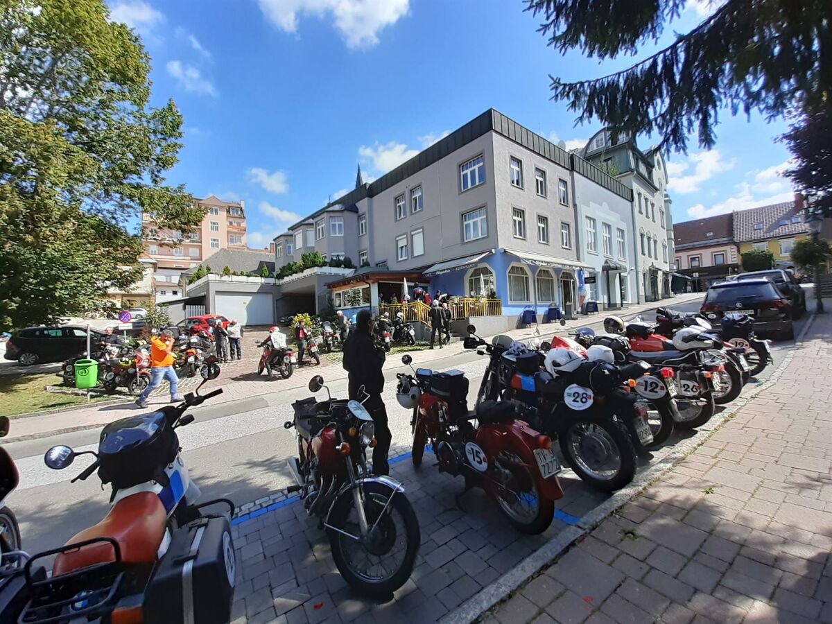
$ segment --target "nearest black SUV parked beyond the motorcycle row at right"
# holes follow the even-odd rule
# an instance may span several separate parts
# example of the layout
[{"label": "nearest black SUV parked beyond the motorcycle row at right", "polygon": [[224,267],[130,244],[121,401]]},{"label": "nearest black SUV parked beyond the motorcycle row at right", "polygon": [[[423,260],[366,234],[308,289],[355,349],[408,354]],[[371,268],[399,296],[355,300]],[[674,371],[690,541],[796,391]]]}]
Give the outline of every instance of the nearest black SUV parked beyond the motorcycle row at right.
[{"label": "nearest black SUV parked beyond the motorcycle row at right", "polygon": [[795,338],[791,304],[768,277],[712,285],[699,311],[711,324],[721,324],[725,314],[747,314],[754,320],[756,334]]}]

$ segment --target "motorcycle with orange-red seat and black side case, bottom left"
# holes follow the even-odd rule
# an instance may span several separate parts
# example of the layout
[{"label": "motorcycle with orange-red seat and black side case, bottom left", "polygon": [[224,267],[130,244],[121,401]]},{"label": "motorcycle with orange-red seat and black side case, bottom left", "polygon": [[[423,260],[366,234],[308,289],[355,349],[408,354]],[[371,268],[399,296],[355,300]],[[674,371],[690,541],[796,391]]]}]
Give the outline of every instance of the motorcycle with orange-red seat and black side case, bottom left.
[{"label": "motorcycle with orange-red seat and black side case, bottom left", "polygon": [[[200,372],[205,384],[220,368],[206,364]],[[72,483],[97,470],[102,484],[111,484],[111,508],[65,546],[29,559],[24,577],[31,596],[19,622],[230,621],[236,565],[230,515],[204,510],[222,504],[233,514],[234,503],[196,503],[200,491],[176,435],[194,421],[187,409],[222,393],[201,396],[202,384],[180,405],[109,423],[97,452],[47,451],[44,461],[55,470],[95,456]],[[52,558],[52,576],[35,577],[34,564]]]}]

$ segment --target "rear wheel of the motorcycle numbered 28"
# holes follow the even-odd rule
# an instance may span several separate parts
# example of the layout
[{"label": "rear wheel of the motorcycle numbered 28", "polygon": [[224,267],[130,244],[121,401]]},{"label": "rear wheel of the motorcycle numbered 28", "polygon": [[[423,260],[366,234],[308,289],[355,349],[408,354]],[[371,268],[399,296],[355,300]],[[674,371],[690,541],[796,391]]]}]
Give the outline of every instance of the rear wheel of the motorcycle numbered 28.
[{"label": "rear wheel of the motorcycle numbered 28", "polygon": [[569,467],[599,492],[615,492],[636,476],[636,448],[612,418],[572,420],[557,432],[557,442]]}]

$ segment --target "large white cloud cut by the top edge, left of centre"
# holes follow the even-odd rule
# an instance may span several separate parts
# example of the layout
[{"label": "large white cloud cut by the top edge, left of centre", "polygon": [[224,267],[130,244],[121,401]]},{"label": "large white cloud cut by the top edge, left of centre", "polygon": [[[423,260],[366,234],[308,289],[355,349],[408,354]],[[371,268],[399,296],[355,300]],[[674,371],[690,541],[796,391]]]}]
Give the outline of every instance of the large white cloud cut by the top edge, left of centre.
[{"label": "large white cloud cut by the top edge, left of centre", "polygon": [[347,47],[372,47],[379,32],[409,11],[409,0],[258,0],[265,17],[285,32],[297,32],[304,14],[323,18],[331,13]]}]

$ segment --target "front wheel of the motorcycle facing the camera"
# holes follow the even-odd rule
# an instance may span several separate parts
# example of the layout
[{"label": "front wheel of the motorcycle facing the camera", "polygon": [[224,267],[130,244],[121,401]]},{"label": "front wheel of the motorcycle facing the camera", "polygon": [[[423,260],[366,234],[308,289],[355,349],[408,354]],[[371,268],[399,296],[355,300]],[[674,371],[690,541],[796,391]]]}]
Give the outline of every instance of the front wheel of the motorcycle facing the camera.
[{"label": "front wheel of the motorcycle facing the camera", "polygon": [[[367,482],[361,487],[367,522],[369,526],[376,524],[373,534],[368,542],[362,542],[329,530],[329,547],[335,567],[350,587],[364,596],[389,598],[413,572],[422,539],[418,519],[404,493],[394,493],[382,483]],[[360,535],[351,491],[344,492],[335,501],[327,523],[350,536]],[[386,557],[394,561],[382,566]]]}]

